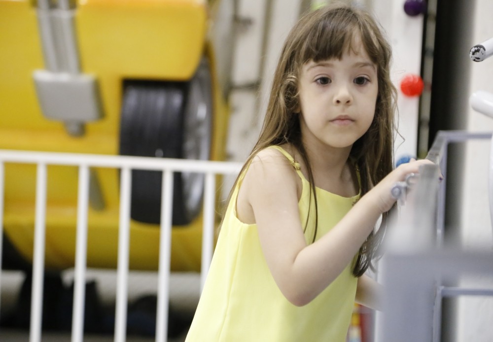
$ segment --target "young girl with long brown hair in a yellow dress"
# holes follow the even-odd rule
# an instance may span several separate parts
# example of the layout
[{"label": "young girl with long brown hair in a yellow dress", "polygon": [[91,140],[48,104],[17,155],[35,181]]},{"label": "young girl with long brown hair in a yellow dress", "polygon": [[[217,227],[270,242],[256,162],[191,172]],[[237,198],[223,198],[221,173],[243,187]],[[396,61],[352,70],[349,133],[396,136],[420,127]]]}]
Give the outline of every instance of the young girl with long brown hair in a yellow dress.
[{"label": "young girl with long brown hair in a yellow dress", "polygon": [[292,29],[186,341],[344,342],[354,301],[377,306],[364,273],[391,187],[426,163],[392,171],[389,61],[356,8],[324,7]]}]

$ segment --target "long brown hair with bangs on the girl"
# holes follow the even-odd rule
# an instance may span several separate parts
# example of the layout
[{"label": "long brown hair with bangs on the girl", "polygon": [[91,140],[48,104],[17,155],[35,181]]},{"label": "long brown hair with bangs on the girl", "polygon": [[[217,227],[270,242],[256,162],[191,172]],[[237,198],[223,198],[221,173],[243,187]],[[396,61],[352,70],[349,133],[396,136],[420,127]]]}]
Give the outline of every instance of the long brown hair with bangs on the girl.
[{"label": "long brown hair with bangs on the girl", "polygon": [[[274,74],[260,136],[240,172],[242,174],[246,170],[252,158],[262,149],[284,143],[292,145],[307,167],[310,191],[313,194],[310,198],[314,197],[316,216],[318,209],[315,182],[301,138],[299,116],[296,114],[300,107],[298,76],[301,67],[309,61],[341,59],[345,51],[354,49],[354,34],[360,34],[363,47],[377,66],[378,74],[378,96],[373,122],[368,131],[354,142],[350,153],[350,158],[360,173],[361,196],[392,171],[396,90],[389,75],[390,45],[369,13],[352,6],[337,5],[306,13],[288,34]],[[372,259],[382,241],[386,223],[387,213],[384,213],[380,229],[375,228],[359,249],[352,271],[355,276],[364,274],[372,267]],[[317,234],[317,224],[316,217],[313,241]]]}]

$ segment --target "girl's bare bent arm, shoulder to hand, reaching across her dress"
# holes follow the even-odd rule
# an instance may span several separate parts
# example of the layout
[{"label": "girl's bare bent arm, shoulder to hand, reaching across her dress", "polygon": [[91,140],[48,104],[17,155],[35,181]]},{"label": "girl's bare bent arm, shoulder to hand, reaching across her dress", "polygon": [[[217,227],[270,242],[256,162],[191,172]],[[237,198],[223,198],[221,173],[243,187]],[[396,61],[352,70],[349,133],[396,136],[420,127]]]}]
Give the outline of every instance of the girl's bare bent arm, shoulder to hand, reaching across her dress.
[{"label": "girl's bare bent arm, shoulder to hand, reaching across her dress", "polygon": [[[282,159],[284,161],[282,161]],[[305,242],[298,209],[298,175],[273,149],[251,163],[242,188],[257,224],[267,265],[281,292],[292,304],[310,303],[352,261],[379,216],[395,202],[390,189],[429,161],[402,164],[352,207],[329,233]]]}]

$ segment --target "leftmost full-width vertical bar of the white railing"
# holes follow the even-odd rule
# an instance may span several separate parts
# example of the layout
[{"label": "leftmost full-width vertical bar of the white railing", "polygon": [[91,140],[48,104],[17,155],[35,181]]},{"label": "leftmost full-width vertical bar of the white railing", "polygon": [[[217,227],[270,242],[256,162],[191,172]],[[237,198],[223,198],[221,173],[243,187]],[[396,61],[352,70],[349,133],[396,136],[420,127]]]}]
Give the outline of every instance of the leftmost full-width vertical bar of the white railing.
[{"label": "leftmost full-width vertical bar of the white railing", "polygon": [[44,248],[46,230],[46,164],[36,169],[35,241],[33,255],[33,288],[31,296],[30,342],[41,341]]}]

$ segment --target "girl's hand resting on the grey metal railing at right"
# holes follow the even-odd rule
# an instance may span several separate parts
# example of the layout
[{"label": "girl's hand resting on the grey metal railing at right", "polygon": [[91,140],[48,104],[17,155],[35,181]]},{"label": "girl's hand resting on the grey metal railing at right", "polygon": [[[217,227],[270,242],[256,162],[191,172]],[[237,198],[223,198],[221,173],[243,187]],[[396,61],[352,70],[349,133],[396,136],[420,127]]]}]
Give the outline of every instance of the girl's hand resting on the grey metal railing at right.
[{"label": "girl's hand resting on the grey metal railing at right", "polygon": [[381,213],[388,211],[395,203],[396,199],[392,196],[391,190],[396,182],[404,181],[410,173],[419,173],[420,167],[424,164],[433,164],[427,159],[414,160],[409,163],[401,164],[380,181],[367,195],[375,196],[375,204]]}]

